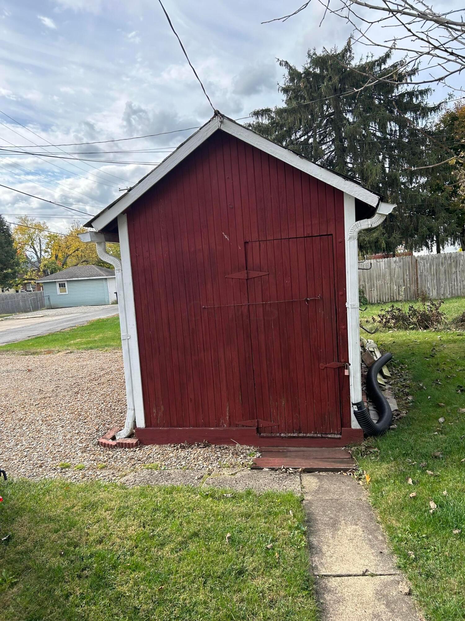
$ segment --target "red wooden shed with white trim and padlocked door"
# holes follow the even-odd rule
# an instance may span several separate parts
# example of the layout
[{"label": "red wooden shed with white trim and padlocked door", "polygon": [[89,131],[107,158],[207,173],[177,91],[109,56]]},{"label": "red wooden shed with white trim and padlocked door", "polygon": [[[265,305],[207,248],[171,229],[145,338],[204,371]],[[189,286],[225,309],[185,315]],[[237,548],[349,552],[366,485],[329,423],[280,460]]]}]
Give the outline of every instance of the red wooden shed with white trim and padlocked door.
[{"label": "red wooden shed with white trim and padlocked door", "polygon": [[101,256],[121,248],[126,435],[361,439],[357,234],[391,210],[216,114],[94,217]]}]

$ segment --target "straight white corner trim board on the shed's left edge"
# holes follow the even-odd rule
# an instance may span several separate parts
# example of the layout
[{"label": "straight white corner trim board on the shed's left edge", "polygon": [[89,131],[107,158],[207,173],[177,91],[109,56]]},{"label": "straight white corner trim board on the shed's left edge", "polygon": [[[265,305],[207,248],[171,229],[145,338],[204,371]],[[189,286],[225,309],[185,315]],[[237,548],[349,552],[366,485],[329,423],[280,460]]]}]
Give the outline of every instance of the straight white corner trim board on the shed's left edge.
[{"label": "straight white corner trim board on the shed's left edge", "polygon": [[[136,308],[134,304],[133,274],[129,252],[128,221],[126,214],[118,215],[121,263],[123,268],[123,288],[126,304],[126,322],[129,338],[129,352],[133,379],[134,407],[137,427],[145,427],[144,399],[142,395],[141,364],[136,326]],[[119,295],[119,293],[118,293]]]}]

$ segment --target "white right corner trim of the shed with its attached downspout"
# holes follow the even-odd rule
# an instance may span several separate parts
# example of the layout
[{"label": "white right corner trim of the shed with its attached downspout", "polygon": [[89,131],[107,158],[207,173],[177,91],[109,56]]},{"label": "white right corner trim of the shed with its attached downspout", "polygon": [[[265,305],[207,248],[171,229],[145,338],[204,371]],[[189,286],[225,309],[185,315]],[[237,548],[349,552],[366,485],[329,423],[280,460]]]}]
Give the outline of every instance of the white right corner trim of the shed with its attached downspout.
[{"label": "white right corner trim of the shed with its attached downspout", "polygon": [[[360,309],[358,302],[358,233],[363,229],[377,227],[395,205],[380,202],[372,218],[355,220],[355,198],[344,193],[344,227],[345,227],[345,279],[347,298],[347,338],[350,363],[350,401],[360,403],[361,366],[360,366]],[[360,428],[351,408],[352,428]]]}]

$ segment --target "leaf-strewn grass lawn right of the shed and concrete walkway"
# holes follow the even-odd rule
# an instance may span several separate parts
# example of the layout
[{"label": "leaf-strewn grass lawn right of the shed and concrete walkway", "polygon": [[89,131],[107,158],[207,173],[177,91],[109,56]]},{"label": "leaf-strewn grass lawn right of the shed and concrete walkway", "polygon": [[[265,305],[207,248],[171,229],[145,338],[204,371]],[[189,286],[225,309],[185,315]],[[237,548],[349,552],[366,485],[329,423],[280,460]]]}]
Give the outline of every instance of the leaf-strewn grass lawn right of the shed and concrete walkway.
[{"label": "leaf-strewn grass lawn right of the shed and concrete walkway", "polygon": [[[458,314],[463,301],[447,307]],[[368,442],[379,452],[358,463],[371,477],[371,500],[427,619],[465,619],[465,333],[399,331],[374,339],[394,355],[389,366],[394,376],[398,369],[393,389],[401,409],[407,396],[414,401],[395,430]]]}]

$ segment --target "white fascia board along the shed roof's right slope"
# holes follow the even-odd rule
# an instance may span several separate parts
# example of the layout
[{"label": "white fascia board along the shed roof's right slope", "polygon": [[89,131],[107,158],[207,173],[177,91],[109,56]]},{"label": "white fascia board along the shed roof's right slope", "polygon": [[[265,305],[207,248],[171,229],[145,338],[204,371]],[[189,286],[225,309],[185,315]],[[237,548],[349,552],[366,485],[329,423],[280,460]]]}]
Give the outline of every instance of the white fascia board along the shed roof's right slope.
[{"label": "white fascia board along the shed roof's right slope", "polygon": [[278,160],[284,161],[294,168],[298,168],[304,173],[307,173],[308,175],[333,186],[333,188],[340,189],[342,192],[365,202],[371,207],[376,207],[379,203],[379,196],[377,194],[362,188],[357,183],[353,183],[353,181],[349,181],[348,179],[336,175],[336,173],[333,173],[326,168],[317,166],[311,161],[297,155],[297,153],[285,149],[284,147],[280,147],[280,145],[271,142],[271,140],[268,140],[267,138],[263,138],[263,136],[252,132],[252,130],[247,129],[247,127],[242,127],[242,125],[238,125],[228,119],[223,119],[221,129],[224,132],[228,132],[228,134],[239,138],[239,140],[247,142],[249,145],[252,145],[252,147],[259,148],[260,151],[268,153],[268,155],[272,155]]}]

